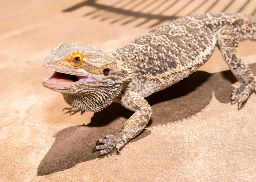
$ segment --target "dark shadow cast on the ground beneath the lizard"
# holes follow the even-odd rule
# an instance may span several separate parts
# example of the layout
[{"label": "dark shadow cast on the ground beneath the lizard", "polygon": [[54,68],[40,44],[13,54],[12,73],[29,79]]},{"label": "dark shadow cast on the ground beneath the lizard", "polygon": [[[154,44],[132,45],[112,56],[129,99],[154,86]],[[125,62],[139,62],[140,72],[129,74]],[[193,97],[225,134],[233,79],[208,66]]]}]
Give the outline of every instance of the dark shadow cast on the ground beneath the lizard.
[{"label": "dark shadow cast on the ground beneath the lizard", "polygon": [[[251,68],[256,70],[256,64],[252,64]],[[237,80],[231,71],[214,74],[197,71],[147,98],[153,110],[153,116],[147,126],[167,124],[195,115],[210,103],[213,92],[219,102],[229,103],[230,94],[234,89],[231,84],[235,82]],[[97,158],[97,154],[91,153],[95,142],[105,135],[118,132],[131,115],[132,112],[120,104],[113,103],[102,112],[95,113],[89,124],[71,126],[59,131],[54,136],[52,147],[40,162],[37,175],[63,171],[78,163]],[[131,142],[138,141],[150,133],[151,131],[146,129]]]}]

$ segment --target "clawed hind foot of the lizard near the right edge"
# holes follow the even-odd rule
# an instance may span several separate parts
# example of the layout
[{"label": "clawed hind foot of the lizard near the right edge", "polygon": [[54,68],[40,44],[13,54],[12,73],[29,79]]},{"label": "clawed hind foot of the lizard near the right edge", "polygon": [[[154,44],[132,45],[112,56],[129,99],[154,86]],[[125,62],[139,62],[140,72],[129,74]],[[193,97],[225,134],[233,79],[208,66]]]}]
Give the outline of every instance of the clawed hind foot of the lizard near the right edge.
[{"label": "clawed hind foot of the lizard near the right edge", "polygon": [[231,95],[231,104],[237,102],[237,107],[239,109],[242,104],[249,98],[254,89],[254,82],[251,82],[247,85],[241,85],[239,88],[236,88]]}]

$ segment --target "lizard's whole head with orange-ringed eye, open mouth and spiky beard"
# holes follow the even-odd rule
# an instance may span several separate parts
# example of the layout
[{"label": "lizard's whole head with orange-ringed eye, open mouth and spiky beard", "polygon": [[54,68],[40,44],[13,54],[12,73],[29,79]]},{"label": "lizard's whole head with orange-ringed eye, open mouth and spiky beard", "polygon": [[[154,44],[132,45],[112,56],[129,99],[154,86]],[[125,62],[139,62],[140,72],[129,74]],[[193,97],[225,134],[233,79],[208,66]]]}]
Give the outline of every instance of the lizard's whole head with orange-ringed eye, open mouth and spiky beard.
[{"label": "lizard's whole head with orange-ringed eye, open mouth and spiky beard", "polygon": [[93,112],[108,106],[132,73],[116,57],[80,44],[57,44],[43,66],[53,70],[46,88],[63,94],[71,107]]}]

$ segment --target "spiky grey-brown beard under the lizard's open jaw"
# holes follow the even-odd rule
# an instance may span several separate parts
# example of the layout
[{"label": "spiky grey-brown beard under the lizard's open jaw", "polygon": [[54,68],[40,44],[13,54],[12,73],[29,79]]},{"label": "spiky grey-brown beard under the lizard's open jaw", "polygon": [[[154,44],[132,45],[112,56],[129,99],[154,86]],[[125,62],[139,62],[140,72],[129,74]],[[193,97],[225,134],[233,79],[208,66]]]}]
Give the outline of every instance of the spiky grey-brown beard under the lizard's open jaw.
[{"label": "spiky grey-brown beard under the lizard's open jaw", "polygon": [[73,108],[84,111],[99,112],[106,108],[113,98],[120,94],[122,84],[98,83],[92,85],[80,84],[69,90],[55,90],[61,92],[64,100]]}]

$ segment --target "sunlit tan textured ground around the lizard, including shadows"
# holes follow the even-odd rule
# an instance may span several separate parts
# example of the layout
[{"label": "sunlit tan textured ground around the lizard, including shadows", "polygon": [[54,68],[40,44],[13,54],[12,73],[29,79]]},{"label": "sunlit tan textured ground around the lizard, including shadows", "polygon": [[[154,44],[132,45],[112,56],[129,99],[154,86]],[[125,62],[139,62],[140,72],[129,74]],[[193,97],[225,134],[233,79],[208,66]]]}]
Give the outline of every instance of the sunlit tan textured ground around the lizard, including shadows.
[{"label": "sunlit tan textured ground around the lizard, including shadows", "polygon": [[[256,95],[237,111],[237,83],[218,50],[189,78],[147,98],[149,127],[121,155],[91,154],[132,114],[63,115],[44,88],[58,42],[115,50],[168,19],[203,12],[255,14],[256,0],[3,0],[0,2],[0,181],[256,181]],[[256,42],[238,55],[256,75]],[[85,123],[85,126],[82,125]]]}]

